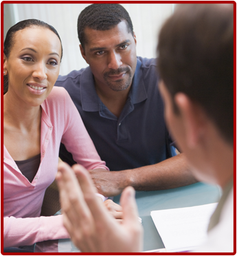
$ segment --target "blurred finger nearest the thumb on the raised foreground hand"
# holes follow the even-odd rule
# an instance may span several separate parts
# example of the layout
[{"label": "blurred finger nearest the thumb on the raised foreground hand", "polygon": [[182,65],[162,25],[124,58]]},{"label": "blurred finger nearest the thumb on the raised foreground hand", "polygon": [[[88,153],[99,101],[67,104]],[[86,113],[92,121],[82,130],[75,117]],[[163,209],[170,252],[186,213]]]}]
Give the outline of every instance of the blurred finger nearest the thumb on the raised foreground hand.
[{"label": "blurred finger nearest the thumb on the raised foreground hand", "polygon": [[103,204],[101,204],[95,196],[96,189],[88,171],[81,168],[81,166],[78,164],[74,165],[72,168],[74,169],[76,177],[78,178],[80,187],[84,193],[84,200],[87,202],[94,220],[97,222],[104,222],[104,220],[106,222],[106,218],[110,220],[111,216],[109,215],[109,212],[104,209]]}]

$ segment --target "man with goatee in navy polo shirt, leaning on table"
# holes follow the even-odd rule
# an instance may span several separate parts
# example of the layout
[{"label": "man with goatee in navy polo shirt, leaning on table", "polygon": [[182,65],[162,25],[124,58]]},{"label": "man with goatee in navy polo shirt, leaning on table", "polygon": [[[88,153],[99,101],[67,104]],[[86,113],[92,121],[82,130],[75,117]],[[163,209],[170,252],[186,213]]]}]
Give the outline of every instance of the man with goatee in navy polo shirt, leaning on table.
[{"label": "man with goatee in navy polo shirt, leaning on table", "polygon": [[[93,4],[78,17],[80,51],[89,67],[60,76],[102,160],[111,170],[91,171],[99,193],[171,189],[196,182],[183,153],[176,155],[163,118],[155,59],[137,57],[128,12]],[[74,164],[64,145],[60,158]],[[123,171],[121,171],[123,170]]]}]

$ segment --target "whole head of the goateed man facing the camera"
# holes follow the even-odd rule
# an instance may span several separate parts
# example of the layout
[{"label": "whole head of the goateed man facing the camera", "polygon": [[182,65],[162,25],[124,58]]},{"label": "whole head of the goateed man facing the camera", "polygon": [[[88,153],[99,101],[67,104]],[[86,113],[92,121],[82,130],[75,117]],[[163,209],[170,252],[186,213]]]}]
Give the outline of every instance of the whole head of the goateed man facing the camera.
[{"label": "whole head of the goateed man facing the camera", "polygon": [[136,38],[131,18],[120,4],[92,4],[82,10],[78,38],[95,85],[116,92],[131,85],[137,65]]}]

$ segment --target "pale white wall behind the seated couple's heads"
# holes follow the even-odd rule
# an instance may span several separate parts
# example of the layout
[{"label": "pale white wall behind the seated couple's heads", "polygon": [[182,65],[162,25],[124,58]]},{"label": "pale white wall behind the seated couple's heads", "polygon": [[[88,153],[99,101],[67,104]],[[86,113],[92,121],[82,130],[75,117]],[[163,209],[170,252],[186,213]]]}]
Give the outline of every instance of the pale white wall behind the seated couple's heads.
[{"label": "pale white wall behind the seated couple's heads", "polygon": [[[79,50],[77,19],[80,12],[89,4],[82,3],[19,3],[4,4],[4,30],[11,22],[23,19],[40,19],[54,26],[63,43],[63,61],[60,74],[87,67]],[[156,56],[157,34],[163,21],[172,14],[171,3],[130,3],[122,4],[133,21],[137,36],[137,55],[147,58]],[[11,17],[11,21],[9,21]],[[12,19],[14,17],[14,19]],[[12,24],[13,25],[13,24]],[[5,31],[4,31],[5,34]]]}]

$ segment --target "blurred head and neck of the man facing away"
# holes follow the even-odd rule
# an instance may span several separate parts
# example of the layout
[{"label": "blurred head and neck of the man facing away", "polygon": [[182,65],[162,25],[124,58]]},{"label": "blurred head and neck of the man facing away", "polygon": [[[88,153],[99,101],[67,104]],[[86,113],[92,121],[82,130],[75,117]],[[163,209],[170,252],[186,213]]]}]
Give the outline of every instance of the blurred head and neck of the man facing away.
[{"label": "blurred head and neck of the man facing away", "polygon": [[168,127],[196,177],[221,186],[232,174],[214,173],[218,153],[233,171],[233,46],[232,5],[190,4],[166,21],[157,47]]}]

